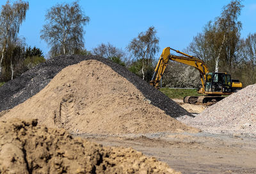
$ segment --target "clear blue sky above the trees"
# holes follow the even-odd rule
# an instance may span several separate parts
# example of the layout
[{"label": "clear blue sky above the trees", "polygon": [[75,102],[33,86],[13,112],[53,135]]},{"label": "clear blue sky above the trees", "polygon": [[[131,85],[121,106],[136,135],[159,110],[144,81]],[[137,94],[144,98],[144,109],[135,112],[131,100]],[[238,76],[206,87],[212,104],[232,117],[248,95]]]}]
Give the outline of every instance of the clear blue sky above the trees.
[{"label": "clear blue sky above the trees", "polygon": [[[13,0],[10,0],[12,3]],[[40,40],[40,30],[45,24],[45,13],[57,3],[71,0],[29,0],[26,20],[19,35],[31,47],[38,47],[47,56],[50,47]],[[0,4],[5,4],[0,0]],[[132,38],[154,26],[159,37],[159,47],[172,47],[182,51],[197,33],[202,32],[209,20],[220,16],[223,6],[230,0],[80,0],[84,13],[90,17],[85,27],[85,48],[90,51],[100,43],[111,43],[125,49]],[[244,8],[239,20],[243,23],[241,37],[256,33],[256,1],[242,1]]]}]

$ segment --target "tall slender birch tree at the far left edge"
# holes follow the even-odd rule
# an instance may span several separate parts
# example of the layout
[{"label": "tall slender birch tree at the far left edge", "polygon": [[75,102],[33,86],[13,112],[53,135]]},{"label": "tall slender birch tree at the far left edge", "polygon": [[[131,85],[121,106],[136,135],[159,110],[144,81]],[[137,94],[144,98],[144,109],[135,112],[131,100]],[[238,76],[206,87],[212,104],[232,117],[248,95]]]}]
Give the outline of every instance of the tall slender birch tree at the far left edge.
[{"label": "tall slender birch tree at the far left edge", "polygon": [[[10,4],[9,1],[6,2],[1,9],[0,15],[0,36],[1,36],[1,59],[0,59],[0,75],[2,72],[2,63],[4,59],[4,54],[6,54],[6,49],[12,49],[15,42],[17,42],[17,35],[19,33],[19,28],[22,22],[26,18],[26,12],[29,8],[28,2],[15,1]],[[12,51],[11,51],[12,52]],[[12,58],[12,56],[11,56]],[[10,60],[10,67],[12,68],[13,77],[13,61]]]}]

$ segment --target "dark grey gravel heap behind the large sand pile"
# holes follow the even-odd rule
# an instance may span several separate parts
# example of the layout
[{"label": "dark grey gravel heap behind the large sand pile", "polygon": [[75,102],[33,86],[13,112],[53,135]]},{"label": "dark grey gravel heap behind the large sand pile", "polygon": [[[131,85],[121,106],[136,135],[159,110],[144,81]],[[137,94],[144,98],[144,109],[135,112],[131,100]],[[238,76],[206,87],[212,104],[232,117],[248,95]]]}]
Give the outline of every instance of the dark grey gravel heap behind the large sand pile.
[{"label": "dark grey gravel heap behind the large sand pile", "polygon": [[137,75],[129,72],[126,68],[105,58],[81,55],[62,55],[48,59],[45,63],[41,63],[32,68],[20,77],[5,83],[0,88],[0,111],[11,109],[38,93],[56,74],[58,74],[58,72],[63,68],[68,67],[68,65],[74,65],[87,59],[95,59],[111,67],[115,72],[134,84],[134,86],[136,86],[136,88],[151,101],[151,104],[164,110],[166,114],[173,118],[183,115],[190,116],[185,109],[173,102],[169,97],[166,97],[161,91],[150,86]]}]

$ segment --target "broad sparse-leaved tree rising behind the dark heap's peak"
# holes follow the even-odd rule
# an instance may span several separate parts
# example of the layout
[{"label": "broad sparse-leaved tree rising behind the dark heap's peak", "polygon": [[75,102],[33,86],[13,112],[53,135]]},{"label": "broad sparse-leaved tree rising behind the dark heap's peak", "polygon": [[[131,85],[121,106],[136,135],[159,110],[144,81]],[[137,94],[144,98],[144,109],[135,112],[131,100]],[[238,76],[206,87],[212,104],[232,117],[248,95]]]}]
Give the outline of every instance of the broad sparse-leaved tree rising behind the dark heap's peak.
[{"label": "broad sparse-leaved tree rising behind the dark heap's peak", "polygon": [[51,45],[51,55],[76,54],[84,47],[84,29],[90,18],[76,2],[52,6],[45,15],[41,39]]}]

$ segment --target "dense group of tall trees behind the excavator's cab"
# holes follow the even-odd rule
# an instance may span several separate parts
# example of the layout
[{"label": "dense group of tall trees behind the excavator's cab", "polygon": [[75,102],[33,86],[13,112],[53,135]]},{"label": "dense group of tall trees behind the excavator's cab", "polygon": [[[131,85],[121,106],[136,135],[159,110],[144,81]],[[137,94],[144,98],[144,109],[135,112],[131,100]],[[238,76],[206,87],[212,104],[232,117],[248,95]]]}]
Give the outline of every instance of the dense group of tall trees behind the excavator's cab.
[{"label": "dense group of tall trees behind the excavator's cab", "polygon": [[241,1],[224,6],[221,15],[205,25],[186,51],[203,59],[211,72],[227,72],[247,86],[256,83],[256,33],[241,38],[238,17],[242,8]]}]

